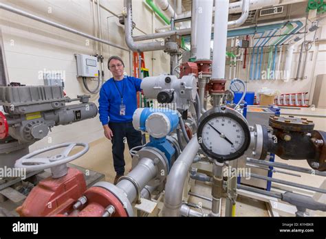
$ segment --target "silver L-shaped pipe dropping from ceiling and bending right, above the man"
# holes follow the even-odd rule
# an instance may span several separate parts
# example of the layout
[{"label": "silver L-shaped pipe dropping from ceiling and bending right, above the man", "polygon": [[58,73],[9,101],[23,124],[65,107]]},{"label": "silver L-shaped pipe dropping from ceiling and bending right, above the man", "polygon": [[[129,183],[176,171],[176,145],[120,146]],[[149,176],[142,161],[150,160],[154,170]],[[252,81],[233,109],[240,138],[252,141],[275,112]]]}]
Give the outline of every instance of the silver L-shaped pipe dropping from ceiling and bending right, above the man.
[{"label": "silver L-shaped pipe dropping from ceiling and bending right, above the man", "polygon": [[133,52],[151,52],[165,49],[165,44],[160,42],[155,43],[135,43],[132,37],[132,3],[131,0],[125,1],[127,16],[124,21],[124,36],[128,47]]}]

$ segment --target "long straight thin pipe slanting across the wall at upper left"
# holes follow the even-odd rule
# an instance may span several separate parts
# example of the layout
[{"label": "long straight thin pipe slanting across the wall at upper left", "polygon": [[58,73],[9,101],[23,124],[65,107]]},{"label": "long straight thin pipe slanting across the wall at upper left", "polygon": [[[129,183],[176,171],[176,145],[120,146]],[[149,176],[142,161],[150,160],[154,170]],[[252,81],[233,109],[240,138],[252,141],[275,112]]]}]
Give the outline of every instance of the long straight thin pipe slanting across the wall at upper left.
[{"label": "long straight thin pipe slanting across the wall at upper left", "polygon": [[124,48],[124,47],[120,47],[120,45],[116,45],[116,44],[113,44],[111,43],[110,41],[105,41],[105,40],[102,40],[100,38],[97,38],[95,36],[91,36],[89,34],[86,34],[84,32],[80,32],[78,30],[75,30],[71,27],[66,27],[65,25],[61,25],[59,23],[54,23],[53,21],[49,21],[47,19],[43,19],[41,18],[40,16],[36,16],[36,15],[33,15],[33,14],[30,14],[28,12],[25,12],[25,11],[22,11],[22,10],[19,10],[17,8],[12,8],[10,5],[6,5],[6,4],[3,4],[3,3],[0,3],[0,9],[3,9],[3,10],[7,10],[9,12],[13,12],[13,13],[16,13],[16,14],[19,14],[21,16],[26,16],[28,17],[29,19],[33,19],[35,21],[40,21],[41,23],[45,23],[47,25],[52,25],[52,27],[57,27],[61,30],[65,30],[67,32],[72,32],[74,34],[77,34],[79,36],[84,36],[86,38],[89,38],[91,40],[94,40],[94,41],[98,41],[100,43],[104,43],[106,45],[111,45],[112,47],[116,47],[116,48],[119,48],[119,49],[123,49],[124,51],[127,51],[129,52],[129,49],[127,48]]}]

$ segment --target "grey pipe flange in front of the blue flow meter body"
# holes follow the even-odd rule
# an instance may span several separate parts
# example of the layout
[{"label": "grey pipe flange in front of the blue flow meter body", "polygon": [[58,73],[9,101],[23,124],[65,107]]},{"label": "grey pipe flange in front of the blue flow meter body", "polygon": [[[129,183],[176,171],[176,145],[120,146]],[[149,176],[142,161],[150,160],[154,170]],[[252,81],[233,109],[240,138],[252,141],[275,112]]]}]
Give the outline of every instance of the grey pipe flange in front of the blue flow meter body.
[{"label": "grey pipe flange in front of the blue flow meter body", "polygon": [[151,159],[157,167],[157,175],[151,179],[147,185],[156,187],[163,183],[169,172],[169,161],[166,159],[163,152],[153,147],[144,147],[139,150],[134,156],[132,161],[132,168],[138,165],[139,161],[143,158]]}]

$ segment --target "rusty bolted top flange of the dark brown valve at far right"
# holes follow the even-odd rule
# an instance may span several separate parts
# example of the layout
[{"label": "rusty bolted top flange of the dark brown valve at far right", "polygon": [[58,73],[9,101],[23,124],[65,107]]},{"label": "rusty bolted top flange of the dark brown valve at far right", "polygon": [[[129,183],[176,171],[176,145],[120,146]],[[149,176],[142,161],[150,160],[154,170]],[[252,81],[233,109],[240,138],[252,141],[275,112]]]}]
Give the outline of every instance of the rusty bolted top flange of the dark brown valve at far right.
[{"label": "rusty bolted top flange of the dark brown valve at far right", "polygon": [[286,131],[311,132],[314,130],[314,122],[306,118],[296,118],[294,116],[274,116],[270,117],[268,124],[272,128],[278,128]]}]

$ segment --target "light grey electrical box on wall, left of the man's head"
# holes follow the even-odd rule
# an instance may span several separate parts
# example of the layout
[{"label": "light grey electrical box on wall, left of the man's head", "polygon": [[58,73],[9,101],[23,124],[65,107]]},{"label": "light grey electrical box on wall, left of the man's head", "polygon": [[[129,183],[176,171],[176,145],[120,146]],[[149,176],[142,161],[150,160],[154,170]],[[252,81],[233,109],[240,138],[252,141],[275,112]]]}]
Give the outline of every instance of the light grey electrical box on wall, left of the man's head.
[{"label": "light grey electrical box on wall, left of the man's head", "polygon": [[98,77],[98,58],[84,54],[75,54],[77,60],[77,77]]}]

